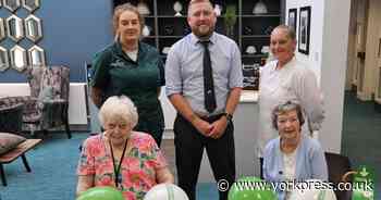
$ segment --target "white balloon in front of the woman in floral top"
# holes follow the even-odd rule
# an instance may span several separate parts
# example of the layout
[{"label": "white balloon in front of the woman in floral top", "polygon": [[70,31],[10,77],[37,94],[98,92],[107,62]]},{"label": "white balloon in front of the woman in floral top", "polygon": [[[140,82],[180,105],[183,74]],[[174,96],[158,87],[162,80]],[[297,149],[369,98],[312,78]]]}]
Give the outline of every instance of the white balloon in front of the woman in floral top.
[{"label": "white balloon in front of the woman in floral top", "polygon": [[144,197],[144,200],[189,200],[185,191],[173,184],[158,184]]}]

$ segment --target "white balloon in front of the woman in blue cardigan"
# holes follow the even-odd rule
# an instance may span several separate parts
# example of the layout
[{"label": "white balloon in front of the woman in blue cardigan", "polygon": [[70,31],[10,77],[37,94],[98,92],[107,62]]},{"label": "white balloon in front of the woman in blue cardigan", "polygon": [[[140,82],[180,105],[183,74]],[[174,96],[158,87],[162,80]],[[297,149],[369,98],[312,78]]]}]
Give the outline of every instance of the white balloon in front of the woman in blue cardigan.
[{"label": "white balloon in front of the woman in blue cardigan", "polygon": [[[309,179],[305,183],[299,183],[291,192],[290,199],[292,200],[336,200],[336,195],[332,189],[325,188],[328,183],[323,183],[320,179]],[[324,188],[324,189],[321,189]]]}]

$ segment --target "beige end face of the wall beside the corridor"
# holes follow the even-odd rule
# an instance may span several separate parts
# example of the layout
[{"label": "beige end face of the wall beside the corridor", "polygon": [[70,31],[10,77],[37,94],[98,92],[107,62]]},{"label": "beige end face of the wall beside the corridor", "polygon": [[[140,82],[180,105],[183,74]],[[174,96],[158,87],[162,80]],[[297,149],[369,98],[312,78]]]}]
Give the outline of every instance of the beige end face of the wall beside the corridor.
[{"label": "beige end face of the wall beside the corridor", "polygon": [[351,0],[325,0],[321,88],[325,96],[327,118],[322,145],[334,152],[341,150],[349,11]]}]

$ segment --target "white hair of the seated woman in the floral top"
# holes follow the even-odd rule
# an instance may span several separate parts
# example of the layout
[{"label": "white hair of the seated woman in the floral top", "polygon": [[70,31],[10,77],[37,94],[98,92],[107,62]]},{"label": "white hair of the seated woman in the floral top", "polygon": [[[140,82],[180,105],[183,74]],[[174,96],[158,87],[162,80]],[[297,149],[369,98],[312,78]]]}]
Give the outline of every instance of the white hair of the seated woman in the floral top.
[{"label": "white hair of the seated woman in the floral top", "polygon": [[134,128],[138,121],[135,104],[126,96],[109,97],[99,110],[99,122],[105,127],[108,122],[125,122]]}]

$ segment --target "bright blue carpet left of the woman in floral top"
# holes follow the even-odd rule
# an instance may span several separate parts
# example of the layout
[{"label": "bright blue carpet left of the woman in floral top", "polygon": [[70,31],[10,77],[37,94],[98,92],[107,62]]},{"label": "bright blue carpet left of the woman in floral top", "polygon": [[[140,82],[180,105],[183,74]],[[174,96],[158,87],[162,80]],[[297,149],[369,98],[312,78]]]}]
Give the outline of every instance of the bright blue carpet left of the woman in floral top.
[{"label": "bright blue carpet left of the woman in floral top", "polygon": [[42,143],[27,152],[32,167],[27,173],[21,161],[5,164],[8,186],[0,186],[1,200],[72,200],[75,199],[78,146],[88,134],[49,134]]}]

